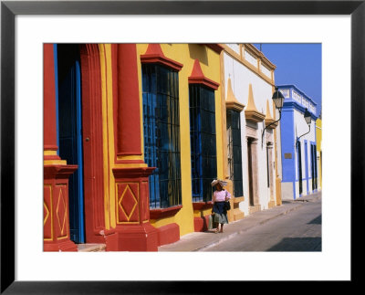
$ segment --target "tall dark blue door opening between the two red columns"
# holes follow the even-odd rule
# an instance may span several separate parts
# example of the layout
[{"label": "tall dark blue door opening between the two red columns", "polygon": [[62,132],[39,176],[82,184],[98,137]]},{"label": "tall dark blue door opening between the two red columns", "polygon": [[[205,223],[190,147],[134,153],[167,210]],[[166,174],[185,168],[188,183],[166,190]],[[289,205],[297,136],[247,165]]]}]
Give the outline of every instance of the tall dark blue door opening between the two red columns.
[{"label": "tall dark blue door opening between the two red columns", "polygon": [[57,114],[59,156],[68,164],[77,164],[78,170],[68,183],[70,238],[85,242],[81,73],[78,46],[57,45]]}]

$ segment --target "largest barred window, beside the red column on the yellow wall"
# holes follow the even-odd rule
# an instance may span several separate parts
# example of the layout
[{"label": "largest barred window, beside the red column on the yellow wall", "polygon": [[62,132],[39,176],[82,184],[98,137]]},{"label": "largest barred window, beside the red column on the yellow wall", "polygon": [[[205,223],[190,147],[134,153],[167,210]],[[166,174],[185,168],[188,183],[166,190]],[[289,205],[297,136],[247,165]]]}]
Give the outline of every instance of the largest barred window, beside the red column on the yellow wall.
[{"label": "largest barred window, beside the red column on the yellow wall", "polygon": [[156,167],[149,178],[150,207],[182,204],[178,72],[142,65],[144,160]]}]

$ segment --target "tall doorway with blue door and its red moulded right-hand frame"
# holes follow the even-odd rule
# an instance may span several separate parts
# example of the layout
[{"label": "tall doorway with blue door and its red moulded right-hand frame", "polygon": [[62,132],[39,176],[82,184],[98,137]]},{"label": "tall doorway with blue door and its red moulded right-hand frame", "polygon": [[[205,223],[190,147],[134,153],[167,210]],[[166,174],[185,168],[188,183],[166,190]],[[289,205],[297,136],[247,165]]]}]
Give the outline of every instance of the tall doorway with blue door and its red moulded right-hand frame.
[{"label": "tall doorway with blue door and its red moulded right-hand frame", "polygon": [[104,243],[101,78],[98,44],[57,44],[57,145],[78,164],[69,182],[70,238]]}]

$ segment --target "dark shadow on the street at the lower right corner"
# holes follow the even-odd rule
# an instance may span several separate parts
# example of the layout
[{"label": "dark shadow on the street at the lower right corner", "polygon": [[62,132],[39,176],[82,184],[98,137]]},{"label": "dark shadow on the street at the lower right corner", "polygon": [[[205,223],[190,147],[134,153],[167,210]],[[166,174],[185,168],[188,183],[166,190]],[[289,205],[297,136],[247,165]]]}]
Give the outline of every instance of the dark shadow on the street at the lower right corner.
[{"label": "dark shadow on the street at the lower right corner", "polygon": [[267,251],[320,252],[322,237],[286,237]]}]

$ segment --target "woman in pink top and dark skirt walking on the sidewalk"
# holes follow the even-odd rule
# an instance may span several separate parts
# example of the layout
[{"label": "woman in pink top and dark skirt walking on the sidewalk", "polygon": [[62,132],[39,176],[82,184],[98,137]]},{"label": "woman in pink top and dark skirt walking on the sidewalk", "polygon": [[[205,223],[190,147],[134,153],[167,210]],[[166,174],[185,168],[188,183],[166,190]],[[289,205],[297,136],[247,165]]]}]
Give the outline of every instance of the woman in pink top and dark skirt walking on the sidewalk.
[{"label": "woman in pink top and dark skirt walking on the sidewalk", "polygon": [[[224,189],[227,183],[220,179],[214,179],[212,186],[215,186],[215,191],[213,194],[213,208],[212,213],[214,214],[214,223],[218,224],[214,233],[223,233],[224,224],[228,224],[227,211],[225,210],[225,201],[231,199],[231,194]],[[221,225],[221,230],[219,230],[219,224]]]}]

